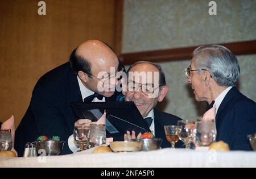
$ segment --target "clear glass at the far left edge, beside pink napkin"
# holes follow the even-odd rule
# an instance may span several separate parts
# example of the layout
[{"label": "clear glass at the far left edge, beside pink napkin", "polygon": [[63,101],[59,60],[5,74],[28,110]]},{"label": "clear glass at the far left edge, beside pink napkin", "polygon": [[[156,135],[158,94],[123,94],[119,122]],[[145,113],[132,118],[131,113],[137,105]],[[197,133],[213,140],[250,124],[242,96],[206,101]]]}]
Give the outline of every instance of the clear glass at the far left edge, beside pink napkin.
[{"label": "clear glass at the far left edge, beside pink napkin", "polygon": [[13,142],[11,141],[11,130],[0,130],[0,151],[10,151],[13,147]]}]

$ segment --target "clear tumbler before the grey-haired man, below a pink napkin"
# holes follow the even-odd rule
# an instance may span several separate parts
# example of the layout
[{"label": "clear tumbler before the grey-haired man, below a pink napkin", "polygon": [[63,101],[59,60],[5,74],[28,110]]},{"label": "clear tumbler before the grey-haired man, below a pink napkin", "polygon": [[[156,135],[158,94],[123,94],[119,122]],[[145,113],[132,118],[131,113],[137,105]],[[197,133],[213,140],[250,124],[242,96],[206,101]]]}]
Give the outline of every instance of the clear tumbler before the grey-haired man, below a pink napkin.
[{"label": "clear tumbler before the grey-haired man, below a pink napkin", "polygon": [[196,122],[196,143],[200,147],[208,147],[216,141],[214,120],[201,120]]}]

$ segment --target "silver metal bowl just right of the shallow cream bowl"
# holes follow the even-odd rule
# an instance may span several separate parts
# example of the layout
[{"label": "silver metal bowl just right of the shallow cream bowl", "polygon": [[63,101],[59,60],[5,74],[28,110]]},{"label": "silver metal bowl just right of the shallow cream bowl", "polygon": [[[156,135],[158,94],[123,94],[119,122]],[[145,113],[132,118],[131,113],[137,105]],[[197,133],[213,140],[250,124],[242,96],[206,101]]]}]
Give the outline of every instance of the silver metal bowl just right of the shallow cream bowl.
[{"label": "silver metal bowl just right of the shallow cream bowl", "polygon": [[152,139],[132,139],[131,141],[142,142],[142,151],[152,151],[160,149],[163,139],[152,138]]}]

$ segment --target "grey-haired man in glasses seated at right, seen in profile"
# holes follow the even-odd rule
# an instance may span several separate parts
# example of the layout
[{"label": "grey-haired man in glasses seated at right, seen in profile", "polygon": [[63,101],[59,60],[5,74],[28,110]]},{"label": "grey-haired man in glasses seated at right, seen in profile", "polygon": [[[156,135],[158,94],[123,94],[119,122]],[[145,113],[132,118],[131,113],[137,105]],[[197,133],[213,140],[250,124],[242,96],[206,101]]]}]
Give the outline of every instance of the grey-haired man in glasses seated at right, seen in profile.
[{"label": "grey-haired man in glasses seated at right, seen in profile", "polygon": [[252,150],[247,135],[256,132],[256,103],[236,88],[240,75],[236,56],[221,45],[201,46],[193,52],[185,74],[196,100],[216,108],[217,141],[225,141],[231,150]]}]

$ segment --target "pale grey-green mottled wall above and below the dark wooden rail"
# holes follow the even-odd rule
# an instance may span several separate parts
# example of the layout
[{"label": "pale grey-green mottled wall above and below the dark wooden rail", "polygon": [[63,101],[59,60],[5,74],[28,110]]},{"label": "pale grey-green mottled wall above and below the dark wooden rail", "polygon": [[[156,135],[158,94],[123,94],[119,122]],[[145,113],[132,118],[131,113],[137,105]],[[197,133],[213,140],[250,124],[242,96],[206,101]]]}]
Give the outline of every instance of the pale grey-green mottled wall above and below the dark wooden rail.
[{"label": "pale grey-green mottled wall above and below the dark wooden rail", "polygon": [[[256,1],[217,2],[217,15],[208,14],[202,0],[125,0],[123,53],[226,43],[256,39]],[[238,87],[256,101],[256,55],[238,56],[241,77]],[[183,119],[199,118],[205,102],[196,102],[184,76],[189,59],[160,63],[170,86],[166,101],[159,105]]]}]

